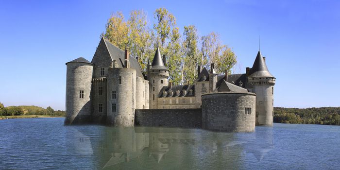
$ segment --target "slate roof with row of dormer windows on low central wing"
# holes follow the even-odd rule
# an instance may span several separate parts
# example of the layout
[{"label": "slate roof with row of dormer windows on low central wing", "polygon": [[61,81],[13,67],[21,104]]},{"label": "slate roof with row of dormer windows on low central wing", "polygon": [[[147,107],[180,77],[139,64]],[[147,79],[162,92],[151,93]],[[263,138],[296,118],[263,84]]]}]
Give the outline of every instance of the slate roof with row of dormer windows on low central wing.
[{"label": "slate roof with row of dormer windows on low central wing", "polygon": [[[176,91],[179,90],[179,95],[176,95]],[[186,94],[184,95],[183,90],[186,91]],[[192,94],[190,94],[190,90],[192,90]],[[167,96],[163,96],[163,91],[167,92]],[[170,91],[172,91],[172,95],[170,94]],[[195,96],[195,85],[172,85],[171,88],[169,86],[164,86],[159,94],[159,98],[164,97],[191,97]]]}]

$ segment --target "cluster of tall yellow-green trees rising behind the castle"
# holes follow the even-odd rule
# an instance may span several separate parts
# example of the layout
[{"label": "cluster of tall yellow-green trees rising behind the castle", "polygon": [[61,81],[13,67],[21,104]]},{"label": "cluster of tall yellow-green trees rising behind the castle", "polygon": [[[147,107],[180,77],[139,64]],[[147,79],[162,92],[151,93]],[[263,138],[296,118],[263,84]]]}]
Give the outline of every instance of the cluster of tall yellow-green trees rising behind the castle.
[{"label": "cluster of tall yellow-green trees rising behind the castle", "polygon": [[121,50],[128,49],[132,56],[138,57],[144,71],[159,47],[166,55],[169,79],[174,85],[187,81],[192,83],[197,76],[198,65],[209,69],[210,63],[216,63],[218,74],[224,74],[225,70],[231,73],[231,68],[237,63],[236,55],[222,43],[218,33],[212,30],[209,34],[200,35],[191,24],[185,25],[181,33],[176,20],[166,8],[156,9],[152,20],[143,10],[133,10],[129,17],[116,12],[108,19],[101,37]]}]

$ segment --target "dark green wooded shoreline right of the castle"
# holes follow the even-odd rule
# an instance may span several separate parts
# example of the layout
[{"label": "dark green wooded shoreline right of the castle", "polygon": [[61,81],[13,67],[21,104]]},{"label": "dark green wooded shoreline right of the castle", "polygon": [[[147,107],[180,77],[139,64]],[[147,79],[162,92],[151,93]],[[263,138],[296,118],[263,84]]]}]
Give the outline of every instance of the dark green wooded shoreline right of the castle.
[{"label": "dark green wooded shoreline right of the castle", "polygon": [[274,107],[274,122],[340,125],[340,107],[306,109]]}]

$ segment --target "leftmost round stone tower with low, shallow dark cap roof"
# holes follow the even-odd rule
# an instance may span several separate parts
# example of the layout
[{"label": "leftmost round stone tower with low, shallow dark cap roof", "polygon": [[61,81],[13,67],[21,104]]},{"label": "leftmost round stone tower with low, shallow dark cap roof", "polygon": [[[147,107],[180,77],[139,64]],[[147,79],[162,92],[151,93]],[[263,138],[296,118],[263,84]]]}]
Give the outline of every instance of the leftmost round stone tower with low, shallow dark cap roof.
[{"label": "leftmost round stone tower with low, shallow dark cap roof", "polygon": [[80,57],[66,63],[65,124],[88,123],[91,120],[91,81],[93,64]]}]

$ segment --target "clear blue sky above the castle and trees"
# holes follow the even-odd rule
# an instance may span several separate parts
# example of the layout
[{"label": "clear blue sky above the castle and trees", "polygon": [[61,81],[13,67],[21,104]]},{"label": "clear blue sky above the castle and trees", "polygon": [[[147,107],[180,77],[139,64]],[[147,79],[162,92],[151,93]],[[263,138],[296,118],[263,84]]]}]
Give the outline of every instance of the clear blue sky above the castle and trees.
[{"label": "clear blue sky above the castle and trees", "polygon": [[91,60],[113,12],[167,8],[183,31],[212,31],[238,56],[238,72],[261,53],[276,77],[274,106],[340,106],[340,1],[0,1],[0,102],[65,109],[65,63]]}]

